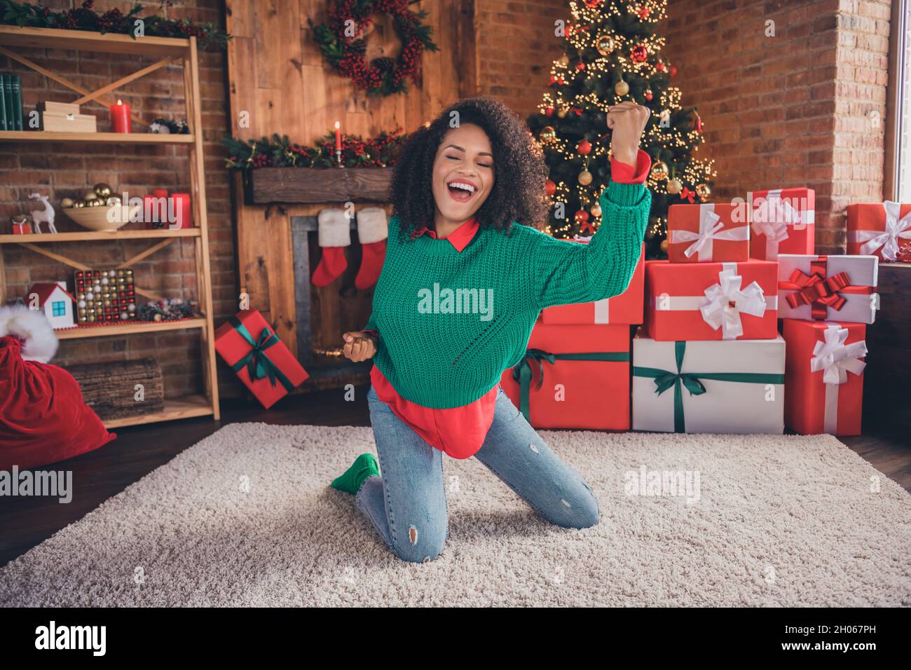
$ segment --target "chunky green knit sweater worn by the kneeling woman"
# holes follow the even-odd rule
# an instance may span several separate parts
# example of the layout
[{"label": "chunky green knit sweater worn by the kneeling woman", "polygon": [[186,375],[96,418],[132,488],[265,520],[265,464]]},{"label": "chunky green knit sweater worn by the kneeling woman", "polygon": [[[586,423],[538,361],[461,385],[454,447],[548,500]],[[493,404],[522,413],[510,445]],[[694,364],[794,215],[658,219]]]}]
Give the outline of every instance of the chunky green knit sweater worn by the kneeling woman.
[{"label": "chunky green knit sweater worn by the kneeling woman", "polygon": [[462,407],[525,354],[537,314],[553,304],[618,295],[639,262],[651,193],[610,182],[588,244],[527,225],[481,227],[461,252],[445,239],[404,241],[391,217],[373,313],[374,363],[406,400]]}]

